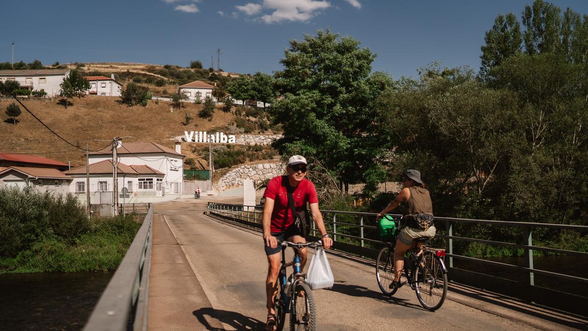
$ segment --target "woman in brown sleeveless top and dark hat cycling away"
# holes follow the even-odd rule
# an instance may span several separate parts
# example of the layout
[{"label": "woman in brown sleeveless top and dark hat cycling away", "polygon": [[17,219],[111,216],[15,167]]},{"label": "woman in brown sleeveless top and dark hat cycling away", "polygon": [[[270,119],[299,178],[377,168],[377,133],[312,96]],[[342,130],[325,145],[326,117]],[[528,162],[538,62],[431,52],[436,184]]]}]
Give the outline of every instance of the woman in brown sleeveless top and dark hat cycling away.
[{"label": "woman in brown sleeveless top and dark hat cycling away", "polygon": [[[384,214],[394,210],[402,202],[406,202],[408,205],[409,213],[405,217],[408,224],[400,231],[394,249],[395,279],[390,284],[390,287],[400,287],[402,285],[400,274],[402,274],[404,256],[407,250],[415,247],[414,240],[422,237],[433,238],[436,232],[435,226],[433,226],[433,204],[429,190],[425,188],[425,184],[420,180],[420,172],[413,169],[406,170],[402,184],[404,185],[402,191],[376,216],[376,220],[379,220]],[[422,244],[418,243],[418,246],[422,246]]]}]

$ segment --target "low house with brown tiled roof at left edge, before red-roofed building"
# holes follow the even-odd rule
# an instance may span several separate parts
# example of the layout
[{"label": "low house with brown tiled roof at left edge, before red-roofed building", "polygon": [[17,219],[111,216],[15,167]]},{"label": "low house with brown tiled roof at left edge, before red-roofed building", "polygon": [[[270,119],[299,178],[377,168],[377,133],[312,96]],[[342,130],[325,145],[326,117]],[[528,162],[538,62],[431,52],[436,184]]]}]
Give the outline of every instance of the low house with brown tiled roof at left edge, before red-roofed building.
[{"label": "low house with brown tiled roof at left edge, before red-roofed building", "polygon": [[31,185],[38,191],[67,194],[72,180],[53,168],[0,167],[0,188]]}]

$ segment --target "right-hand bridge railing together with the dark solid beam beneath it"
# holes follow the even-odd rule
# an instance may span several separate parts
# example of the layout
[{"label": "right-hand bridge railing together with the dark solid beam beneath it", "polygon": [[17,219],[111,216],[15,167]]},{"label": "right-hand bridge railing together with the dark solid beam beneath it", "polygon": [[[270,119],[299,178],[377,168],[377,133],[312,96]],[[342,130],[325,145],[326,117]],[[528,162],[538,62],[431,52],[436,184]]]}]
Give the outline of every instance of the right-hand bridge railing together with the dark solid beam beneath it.
[{"label": "right-hand bridge railing together with the dark solid beam beneath it", "polygon": [[[232,221],[245,226],[261,229],[262,206],[242,206],[238,204],[220,204],[208,203],[208,213],[211,216],[220,219]],[[356,213],[348,211],[336,210],[321,210],[323,219],[325,221],[328,232],[331,234],[335,243],[334,249],[348,251],[349,253],[358,254],[360,256],[374,259],[377,254],[377,249],[382,241],[379,240],[376,233],[376,213]],[[394,215],[400,217],[400,215]],[[440,225],[445,223],[445,229]],[[510,233],[520,233],[520,238],[513,237],[513,241],[519,243],[506,243],[502,241],[482,240],[473,238],[473,234],[463,233],[461,236],[456,236],[456,226],[463,227],[463,224],[480,224],[480,226],[489,229],[492,226],[509,227],[512,229]],[[371,225],[373,224],[373,225]],[[580,274],[573,274],[568,267],[572,267],[573,263],[588,263],[588,253],[572,250],[556,249],[553,247],[533,246],[532,234],[534,229],[548,229],[548,230],[572,230],[579,233],[588,233],[588,226],[573,226],[565,224],[547,224],[547,223],[529,223],[529,222],[513,222],[513,221],[492,221],[492,220],[471,220],[471,219],[455,219],[449,217],[435,217],[435,224],[437,226],[437,235],[433,244],[443,245],[445,243],[446,256],[449,261],[446,263],[449,267],[449,279],[453,282],[468,284],[470,286],[479,287],[481,289],[492,290],[498,293],[504,293],[511,296],[526,299],[532,302],[545,302],[556,304],[562,309],[570,309],[568,311],[576,311],[576,307],[582,307],[582,302],[588,300],[586,291],[586,284],[588,283],[587,273],[588,269],[580,269]],[[316,234],[315,224],[312,224],[313,232]],[[515,263],[497,262],[489,258],[469,257],[457,254],[455,252],[456,242],[473,242],[498,247],[508,247],[510,249],[522,249],[524,251],[524,260],[522,265]],[[561,262],[557,266],[557,272],[543,269],[536,269],[533,265],[533,251],[543,251],[547,253],[562,254],[570,256],[572,259],[566,262]],[[460,265],[467,263],[475,264],[475,267],[470,270],[462,269],[454,266],[454,259],[460,261]],[[484,271],[479,266],[487,266],[491,270]],[[577,267],[577,266],[576,266]],[[473,269],[473,270],[472,270]],[[526,280],[514,281],[506,279],[507,277],[497,276],[494,271],[499,273],[526,273]],[[555,277],[555,282],[552,284],[557,286],[537,286],[535,283],[536,275],[546,277]],[[558,286],[560,283],[570,283],[568,289],[562,291]],[[579,286],[578,286],[579,285]],[[583,291],[583,292],[582,292]],[[567,293],[564,293],[567,292]],[[576,304],[577,303],[577,304]],[[581,311],[581,310],[580,310]]]}]

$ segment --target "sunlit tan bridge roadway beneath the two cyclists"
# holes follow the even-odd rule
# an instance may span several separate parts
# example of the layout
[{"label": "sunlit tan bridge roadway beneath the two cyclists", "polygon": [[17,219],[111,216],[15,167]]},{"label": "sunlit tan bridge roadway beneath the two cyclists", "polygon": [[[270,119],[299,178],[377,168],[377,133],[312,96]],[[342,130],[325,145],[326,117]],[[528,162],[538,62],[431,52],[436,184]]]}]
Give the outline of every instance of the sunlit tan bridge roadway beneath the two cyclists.
[{"label": "sunlit tan bridge roadway beneath the two cyclists", "polygon": [[[149,330],[259,330],[266,319],[266,257],[260,233],[203,215],[203,197],[155,207]],[[222,200],[222,201],[221,201]],[[373,267],[329,254],[332,289],[316,290],[319,330],[586,329],[587,321],[546,307],[451,284],[437,312],[405,286],[379,291]]]}]

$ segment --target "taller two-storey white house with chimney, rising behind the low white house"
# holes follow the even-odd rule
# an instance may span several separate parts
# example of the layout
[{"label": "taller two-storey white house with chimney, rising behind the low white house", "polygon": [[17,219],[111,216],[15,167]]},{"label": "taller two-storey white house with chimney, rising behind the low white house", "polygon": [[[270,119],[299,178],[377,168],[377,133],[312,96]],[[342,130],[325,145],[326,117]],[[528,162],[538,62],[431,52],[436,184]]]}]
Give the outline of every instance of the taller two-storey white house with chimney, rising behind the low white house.
[{"label": "taller two-storey white house with chimney, rising behind the low white house", "polygon": [[[122,142],[116,148],[119,163],[141,164],[163,173],[162,195],[182,194],[183,192],[183,159],[181,144],[176,143],[175,150],[151,142]],[[89,164],[112,160],[112,148],[106,147],[101,151],[89,153]],[[112,176],[112,163],[111,163]],[[135,167],[135,166],[132,166]],[[85,167],[83,167],[85,171]],[[69,174],[66,172],[66,174]],[[112,185],[112,180],[110,181]],[[92,188],[92,184],[91,184]],[[119,184],[119,188],[122,186]],[[112,187],[111,187],[112,190]]]}]

